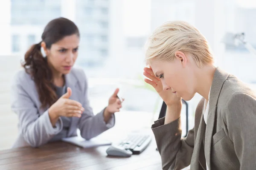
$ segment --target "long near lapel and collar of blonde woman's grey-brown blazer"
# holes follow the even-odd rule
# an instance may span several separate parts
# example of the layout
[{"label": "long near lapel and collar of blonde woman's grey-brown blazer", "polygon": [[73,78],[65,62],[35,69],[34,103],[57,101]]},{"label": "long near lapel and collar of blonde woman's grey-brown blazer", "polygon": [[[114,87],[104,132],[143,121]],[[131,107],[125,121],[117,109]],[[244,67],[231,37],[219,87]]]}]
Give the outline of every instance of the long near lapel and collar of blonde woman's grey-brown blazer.
[{"label": "long near lapel and collar of blonde woman's grey-brown blazer", "polygon": [[217,110],[218,98],[221,93],[222,86],[227,79],[228,74],[224,71],[221,71],[219,68],[216,68],[213,80],[212,87],[210,90],[210,99],[209,99],[209,113],[207,117],[207,125],[205,131],[205,159],[209,170],[211,169],[211,146],[212,146],[212,133],[215,125],[215,116]]}]

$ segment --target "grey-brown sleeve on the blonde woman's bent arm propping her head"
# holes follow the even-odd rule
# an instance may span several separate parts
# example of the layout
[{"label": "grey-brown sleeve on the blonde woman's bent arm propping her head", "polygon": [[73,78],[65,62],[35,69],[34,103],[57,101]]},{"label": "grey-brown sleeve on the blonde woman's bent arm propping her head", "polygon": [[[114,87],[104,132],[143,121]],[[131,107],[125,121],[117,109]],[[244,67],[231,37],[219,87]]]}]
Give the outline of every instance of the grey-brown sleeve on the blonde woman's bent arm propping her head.
[{"label": "grey-brown sleeve on the blonde woman's bent arm propping her head", "polygon": [[194,149],[194,128],[181,139],[180,118],[165,124],[165,118],[152,125],[163,170],[181,170],[189,166]]}]

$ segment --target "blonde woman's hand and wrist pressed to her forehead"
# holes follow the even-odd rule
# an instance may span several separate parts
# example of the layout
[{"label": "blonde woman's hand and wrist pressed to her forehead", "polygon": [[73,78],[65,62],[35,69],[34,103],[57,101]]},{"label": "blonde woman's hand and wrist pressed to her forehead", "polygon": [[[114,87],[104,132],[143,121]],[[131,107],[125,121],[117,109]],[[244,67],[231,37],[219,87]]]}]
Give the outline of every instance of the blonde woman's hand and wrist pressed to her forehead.
[{"label": "blonde woman's hand and wrist pressed to her forehead", "polygon": [[144,81],[155,88],[167,106],[182,105],[181,97],[177,97],[176,94],[172,93],[172,90],[163,91],[161,80],[155,77],[151,68],[145,67],[143,74],[148,78],[144,79]]}]

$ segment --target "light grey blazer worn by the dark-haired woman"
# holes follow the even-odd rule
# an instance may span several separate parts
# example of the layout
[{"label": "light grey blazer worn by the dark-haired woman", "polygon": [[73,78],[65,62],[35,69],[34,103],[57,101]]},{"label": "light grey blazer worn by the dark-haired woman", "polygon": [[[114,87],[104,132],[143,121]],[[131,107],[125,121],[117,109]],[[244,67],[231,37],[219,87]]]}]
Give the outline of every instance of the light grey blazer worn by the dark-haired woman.
[{"label": "light grey blazer worn by the dark-haired woman", "polygon": [[[73,68],[65,75],[65,81],[66,86],[72,89],[70,99],[80,102],[84,107],[81,118],[72,117],[67,137],[76,136],[76,130],[79,128],[83,138],[91,139],[114,126],[114,115],[108,124],[104,122],[104,110],[94,116],[87,97],[87,78],[83,70]],[[19,119],[19,135],[13,147],[38,147],[49,142],[62,130],[61,118],[56,127],[52,127],[48,108],[40,109],[41,102],[35,82],[24,70],[16,74],[12,84],[11,105],[12,111],[17,113]]]}]

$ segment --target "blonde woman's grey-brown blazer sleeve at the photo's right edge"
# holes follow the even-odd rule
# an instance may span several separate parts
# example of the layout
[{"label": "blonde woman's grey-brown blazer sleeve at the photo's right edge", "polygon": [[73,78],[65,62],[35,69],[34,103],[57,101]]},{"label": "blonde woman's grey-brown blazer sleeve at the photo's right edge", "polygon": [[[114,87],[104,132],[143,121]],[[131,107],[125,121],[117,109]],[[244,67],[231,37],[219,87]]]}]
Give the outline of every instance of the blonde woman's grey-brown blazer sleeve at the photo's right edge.
[{"label": "blonde woman's grey-brown blazer sleeve at the photo's right edge", "polygon": [[225,107],[224,121],[234,143],[240,170],[256,167],[256,99],[244,93],[233,94]]}]

